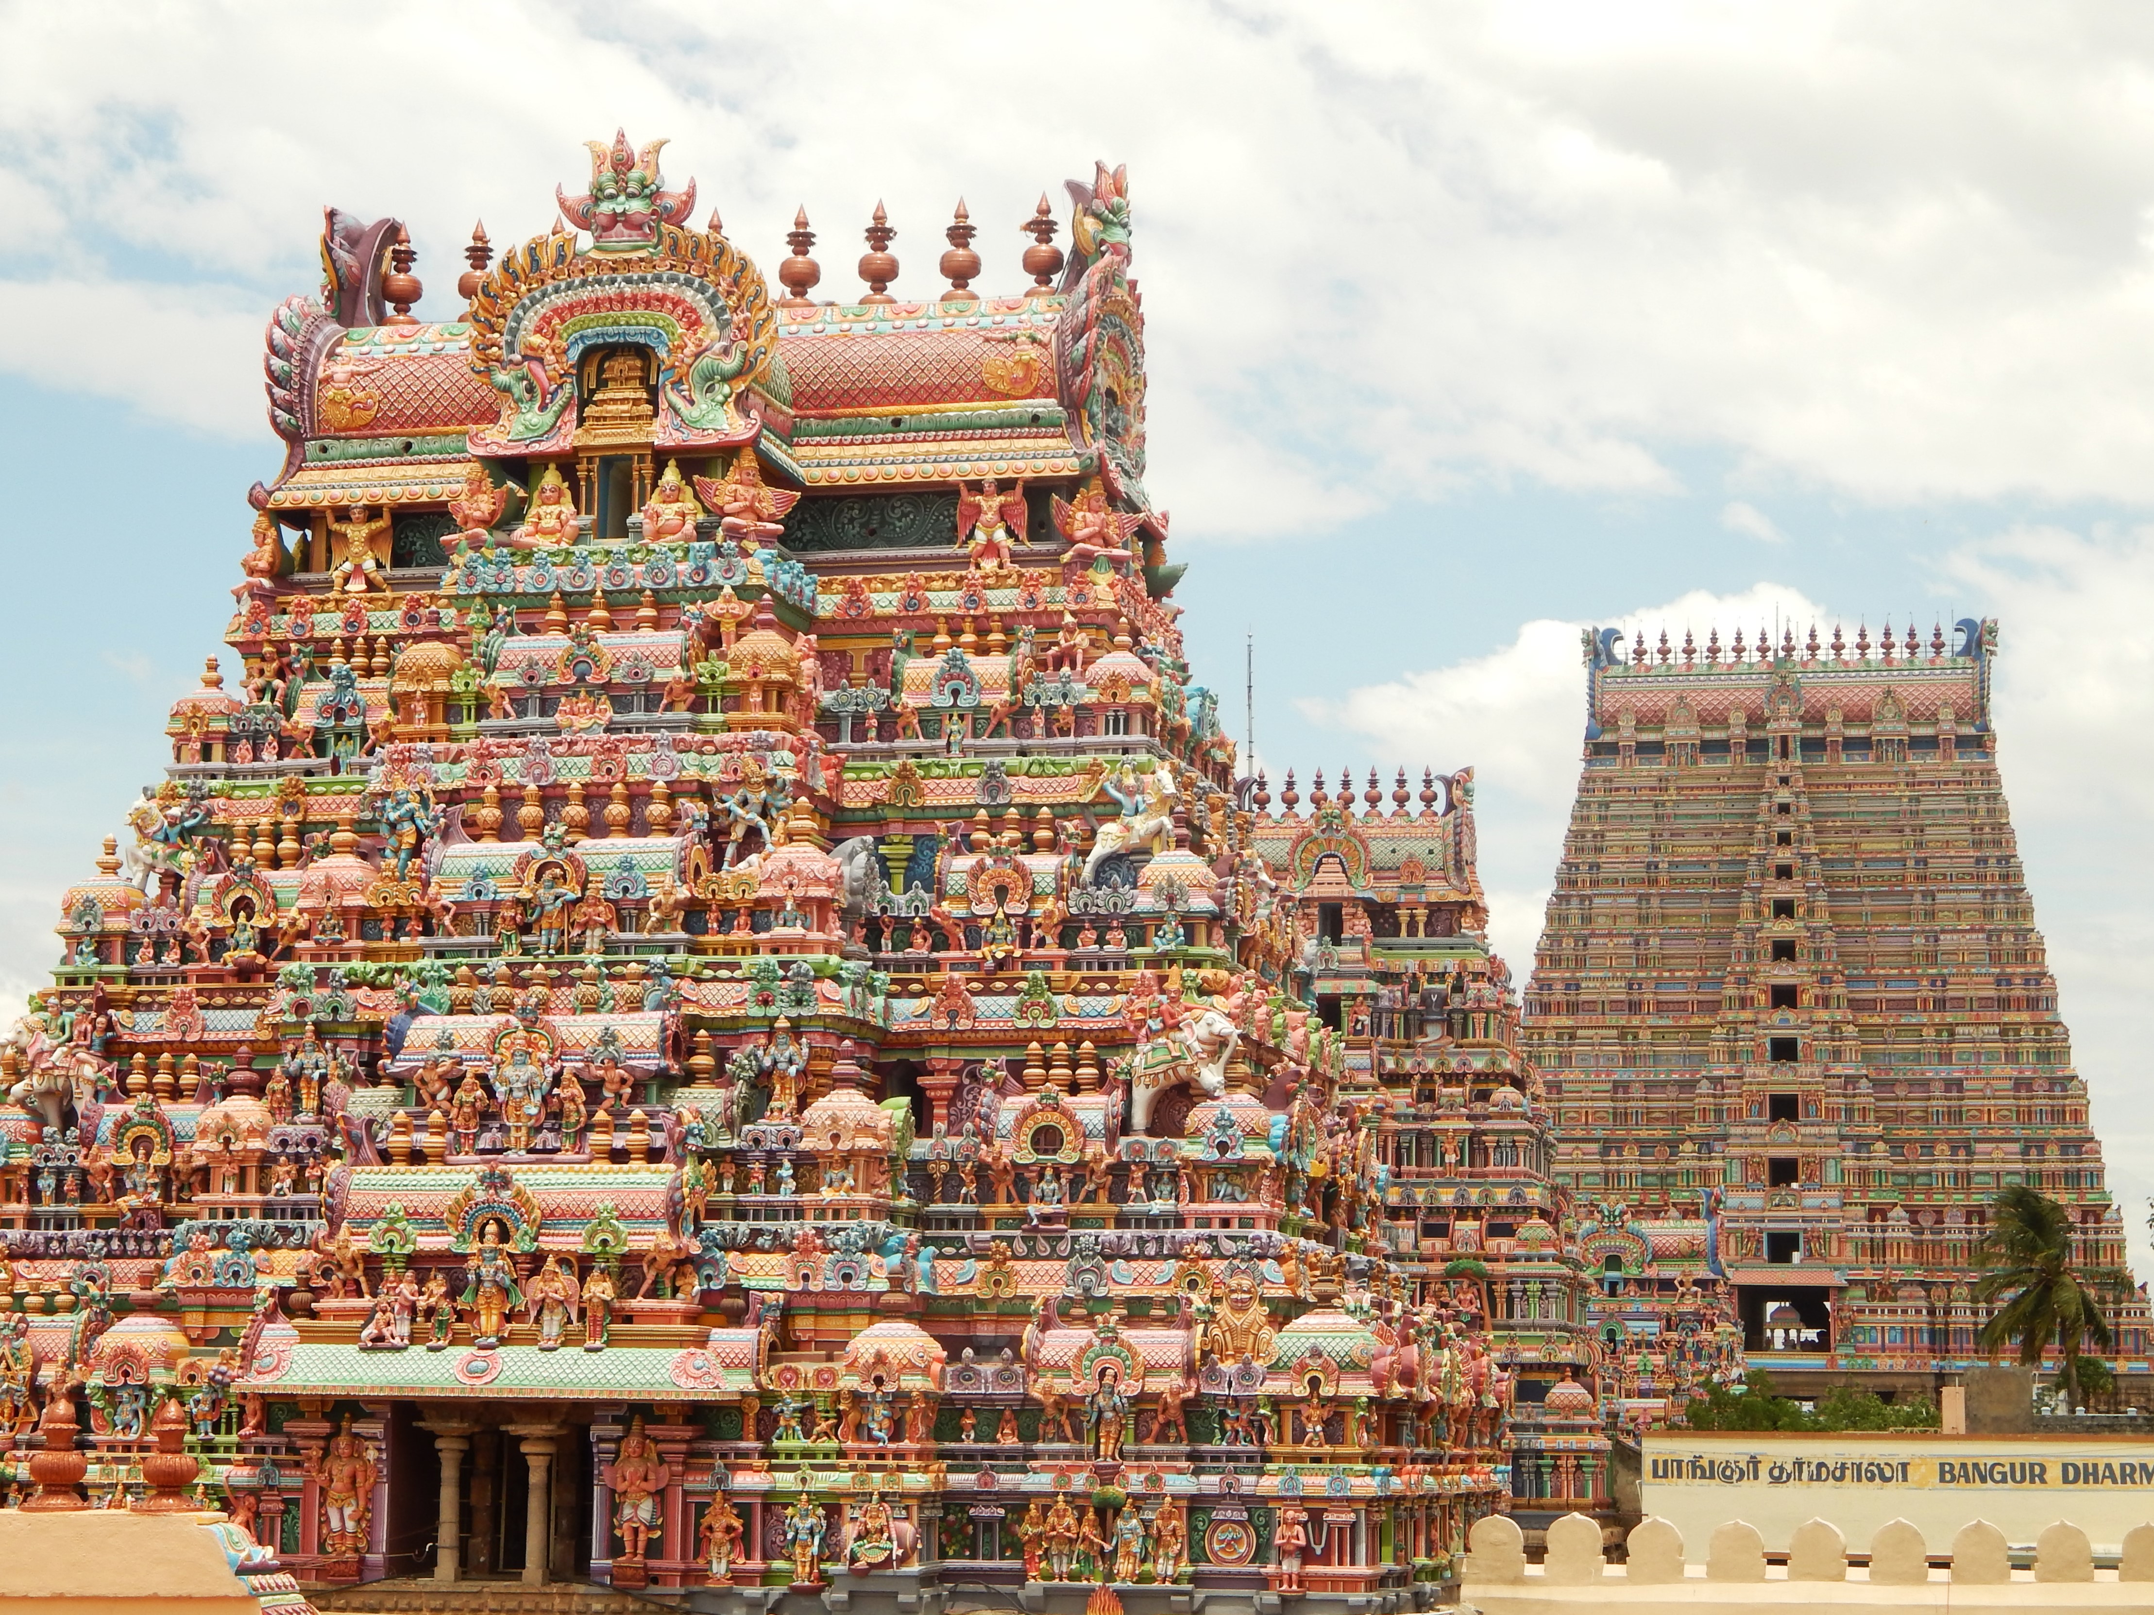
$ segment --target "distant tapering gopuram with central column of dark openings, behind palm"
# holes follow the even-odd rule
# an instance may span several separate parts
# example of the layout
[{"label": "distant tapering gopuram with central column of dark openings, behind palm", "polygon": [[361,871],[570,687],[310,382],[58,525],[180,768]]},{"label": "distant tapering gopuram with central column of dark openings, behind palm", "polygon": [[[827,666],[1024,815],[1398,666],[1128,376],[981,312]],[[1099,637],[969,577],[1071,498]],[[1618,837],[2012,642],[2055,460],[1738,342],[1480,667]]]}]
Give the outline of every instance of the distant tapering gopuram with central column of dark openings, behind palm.
[{"label": "distant tapering gopuram with central column of dark openings, behind palm", "polygon": [[[2033,1184],[2124,1264],[2012,840],[1997,624],[1928,644],[1585,637],[1585,767],[1525,1051],[1579,1204],[1611,1404],[1667,1324],[1732,1320],[1790,1391],[1932,1395],[1982,1361],[1971,1245]],[[2145,1372],[2148,1309],[2117,1367]],[[1700,1335],[1693,1329],[1693,1335]]]}]

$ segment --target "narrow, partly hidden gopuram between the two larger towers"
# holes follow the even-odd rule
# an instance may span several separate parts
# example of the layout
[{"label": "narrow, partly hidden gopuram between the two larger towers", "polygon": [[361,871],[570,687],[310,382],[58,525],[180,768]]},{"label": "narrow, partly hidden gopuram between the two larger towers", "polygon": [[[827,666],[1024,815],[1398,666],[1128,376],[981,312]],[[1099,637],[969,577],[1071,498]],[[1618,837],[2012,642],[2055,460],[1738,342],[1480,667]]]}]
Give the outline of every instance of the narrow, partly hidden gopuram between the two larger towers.
[{"label": "narrow, partly hidden gopuram between the two larger towers", "polygon": [[1381,1118],[1381,1236],[1424,1296],[1493,1335],[1465,1372],[1475,1402],[1512,1404],[1512,1512],[1527,1529],[1613,1514],[1570,1202],[1519,1049],[1519,995],[1488,952],[1473,771],[1424,771],[1417,792],[1398,771],[1389,799],[1374,771],[1359,792],[1351,771],[1335,790],[1316,773],[1305,808],[1288,773],[1282,812],[1264,777],[1251,801],[1256,851],[1301,939],[1299,997],[1344,1038],[1346,1092]]}]

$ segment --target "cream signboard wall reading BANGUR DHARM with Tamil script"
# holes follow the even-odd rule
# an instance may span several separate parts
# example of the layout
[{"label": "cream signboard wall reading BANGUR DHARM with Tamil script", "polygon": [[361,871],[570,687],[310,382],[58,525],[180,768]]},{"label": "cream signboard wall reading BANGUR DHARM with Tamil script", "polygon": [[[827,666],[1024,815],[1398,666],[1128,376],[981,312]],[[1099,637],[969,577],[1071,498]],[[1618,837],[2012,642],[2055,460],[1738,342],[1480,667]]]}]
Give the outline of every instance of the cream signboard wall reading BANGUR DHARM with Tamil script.
[{"label": "cream signboard wall reading BANGUR DHARM with Tamil script", "polygon": [[1887,1520],[1945,1553],[1969,1520],[2031,1544],[2072,1520],[2096,1548],[2154,1520],[2154,1438],[1654,1432],[1641,1443],[1639,1499],[1706,1557],[1712,1527],[1749,1520],[1784,1550],[1803,1520],[1837,1525],[1861,1553]]}]

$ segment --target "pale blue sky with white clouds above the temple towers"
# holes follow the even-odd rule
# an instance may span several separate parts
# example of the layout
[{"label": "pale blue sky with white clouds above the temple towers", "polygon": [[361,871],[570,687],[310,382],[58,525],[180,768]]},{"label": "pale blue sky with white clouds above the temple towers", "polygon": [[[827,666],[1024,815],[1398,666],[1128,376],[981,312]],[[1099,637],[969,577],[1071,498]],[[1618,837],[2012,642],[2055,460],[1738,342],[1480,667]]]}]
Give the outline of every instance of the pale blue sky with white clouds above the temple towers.
[{"label": "pale blue sky with white clouds above the temple towers", "polygon": [[[321,207],[457,312],[584,140],[821,295],[1025,284],[1127,164],[1150,474],[1273,782],[1475,767],[1519,978],[1583,726],[1579,629],[1997,616],[1997,726],[2141,1275],[2154,1090],[2154,11],[1952,0],[459,6],[0,0],[0,1008],[220,648],[278,465],[261,332]],[[1064,237],[1066,241],[1066,237]],[[230,672],[230,665],[228,665]]]}]

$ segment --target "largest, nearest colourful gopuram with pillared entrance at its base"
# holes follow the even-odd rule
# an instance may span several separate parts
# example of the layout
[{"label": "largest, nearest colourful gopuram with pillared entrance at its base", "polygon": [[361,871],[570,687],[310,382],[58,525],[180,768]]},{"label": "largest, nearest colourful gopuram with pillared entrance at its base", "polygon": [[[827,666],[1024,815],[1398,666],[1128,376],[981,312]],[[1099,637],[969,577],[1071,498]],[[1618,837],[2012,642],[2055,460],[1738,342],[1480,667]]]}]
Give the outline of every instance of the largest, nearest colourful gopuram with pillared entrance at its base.
[{"label": "largest, nearest colourful gopuram with pillared entrance at its base", "polygon": [[332,209],[269,323],[243,672],[0,1053],[17,1477],[177,1445],[310,1587],[1419,1598],[1503,1501],[1491,1311],[1575,1309],[1456,784],[1338,838],[1422,848],[1465,1019],[1400,1081],[1508,1150],[1441,1266],[1297,969],[1331,857],[1183,661],[1122,172],[1017,295],[961,207],[900,299],[877,209],[814,301],[659,144],[450,323]]}]

